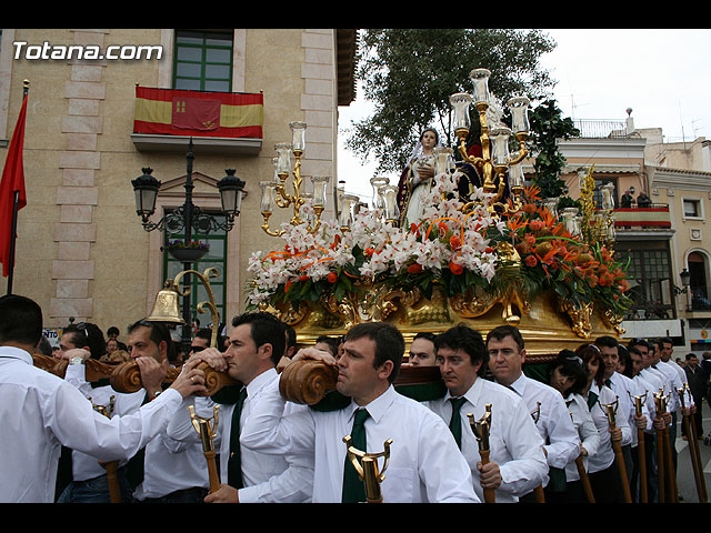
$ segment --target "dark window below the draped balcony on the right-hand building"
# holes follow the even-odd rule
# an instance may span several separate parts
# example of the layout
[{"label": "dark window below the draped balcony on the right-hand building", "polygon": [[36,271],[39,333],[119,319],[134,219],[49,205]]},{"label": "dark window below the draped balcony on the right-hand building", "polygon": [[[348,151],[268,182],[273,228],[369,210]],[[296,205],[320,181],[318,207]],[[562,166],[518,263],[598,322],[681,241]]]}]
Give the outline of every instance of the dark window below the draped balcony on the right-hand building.
[{"label": "dark window below the draped balcony on the right-hand building", "polygon": [[[631,298],[634,306],[625,320],[664,320],[675,318],[668,249],[629,250]],[[622,258],[624,261],[625,258]]]}]

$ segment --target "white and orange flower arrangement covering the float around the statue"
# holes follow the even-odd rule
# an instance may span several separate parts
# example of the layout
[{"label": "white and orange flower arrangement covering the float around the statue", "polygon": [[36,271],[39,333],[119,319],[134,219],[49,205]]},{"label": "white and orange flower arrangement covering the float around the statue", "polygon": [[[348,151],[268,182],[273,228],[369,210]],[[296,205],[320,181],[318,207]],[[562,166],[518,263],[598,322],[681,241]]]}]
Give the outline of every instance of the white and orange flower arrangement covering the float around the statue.
[{"label": "white and orange flower arrangement covering the float around the statue", "polygon": [[[307,224],[284,223],[283,250],[250,258],[248,306],[317,302],[329,294],[340,301],[375,284],[417,288],[430,298],[435,284],[454,296],[474,286],[503,291],[515,282],[529,300],[553,290],[577,306],[599,301],[623,314],[631,304],[625,269],[604,247],[568,233],[537,203],[539,193],[527,188],[523,209],[502,220],[491,215],[490,195],[481,189],[473,190],[463,209],[454,178],[441,173],[422,215],[407,228],[382,221],[372,210],[356,214],[348,231],[327,220],[314,234]],[[519,253],[520,268],[501,268],[498,247],[504,241]]]}]

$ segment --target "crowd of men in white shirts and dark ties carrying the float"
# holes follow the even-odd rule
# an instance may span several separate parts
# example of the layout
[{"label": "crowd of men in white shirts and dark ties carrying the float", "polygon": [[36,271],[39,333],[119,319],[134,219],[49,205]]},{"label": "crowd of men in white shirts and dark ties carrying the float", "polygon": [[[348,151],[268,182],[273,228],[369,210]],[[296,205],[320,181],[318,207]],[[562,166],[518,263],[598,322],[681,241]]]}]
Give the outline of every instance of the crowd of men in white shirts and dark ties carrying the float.
[{"label": "crowd of men in white shirts and dark ties carrying the float", "polygon": [[[678,426],[702,439],[709,399],[702,364],[689,356],[680,368],[669,339],[601,336],[529,375],[511,325],[419,333],[405,351],[395,326],[369,322],[298,346],[293,329],[266,312],[236,316],[217,346],[211,330],[198,331],[184,355],[164,324],[133,322],[123,351],[142,388],[123,393],[86,375],[89,358],[122,351],[119,336],[66,328],[57,356],[68,365],[57,376],[33,366],[41,308],[0,298],[0,502],[678,501]],[[288,401],[280,372],[301,360],[337,368],[344,401]],[[206,364],[237,385],[207,395]],[[170,365],[179,373],[167,382]],[[402,394],[403,366],[438,366],[443,392]],[[217,485],[197,420],[214,424]],[[658,453],[667,440],[673,463]],[[373,486],[363,463],[384,453]]]}]

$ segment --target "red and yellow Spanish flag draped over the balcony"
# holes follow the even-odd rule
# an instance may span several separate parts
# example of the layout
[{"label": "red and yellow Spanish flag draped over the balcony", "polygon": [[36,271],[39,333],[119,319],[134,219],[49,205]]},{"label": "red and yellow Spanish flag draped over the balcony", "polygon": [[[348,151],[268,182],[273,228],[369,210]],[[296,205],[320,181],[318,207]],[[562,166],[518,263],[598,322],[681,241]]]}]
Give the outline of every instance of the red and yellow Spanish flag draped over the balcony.
[{"label": "red and yellow Spanish flag draped over the balcony", "polygon": [[136,88],[134,133],[262,138],[264,97]]}]

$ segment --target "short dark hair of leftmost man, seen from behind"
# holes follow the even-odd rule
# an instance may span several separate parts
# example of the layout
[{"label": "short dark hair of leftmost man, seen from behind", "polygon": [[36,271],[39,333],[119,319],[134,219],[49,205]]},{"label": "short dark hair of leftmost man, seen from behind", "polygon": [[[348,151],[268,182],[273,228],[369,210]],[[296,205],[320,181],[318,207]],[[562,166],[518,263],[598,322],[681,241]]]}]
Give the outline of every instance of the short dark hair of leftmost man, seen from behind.
[{"label": "short dark hair of leftmost man, seen from behind", "polygon": [[0,343],[37,346],[42,339],[42,308],[19,294],[0,298]]}]

